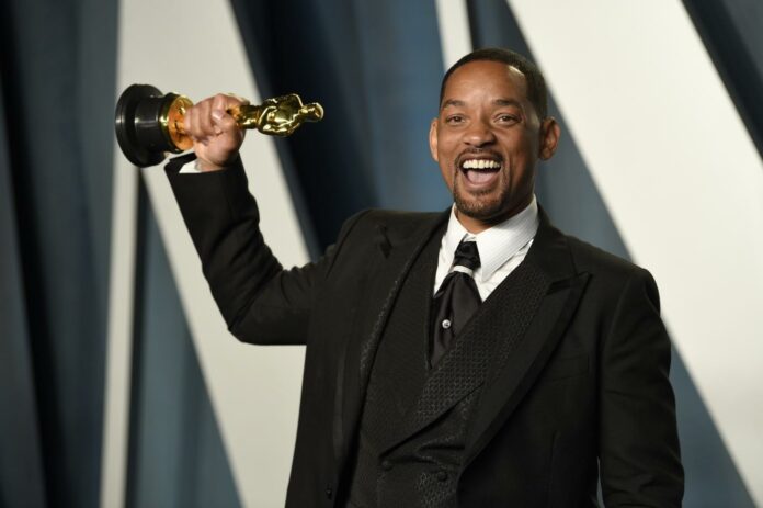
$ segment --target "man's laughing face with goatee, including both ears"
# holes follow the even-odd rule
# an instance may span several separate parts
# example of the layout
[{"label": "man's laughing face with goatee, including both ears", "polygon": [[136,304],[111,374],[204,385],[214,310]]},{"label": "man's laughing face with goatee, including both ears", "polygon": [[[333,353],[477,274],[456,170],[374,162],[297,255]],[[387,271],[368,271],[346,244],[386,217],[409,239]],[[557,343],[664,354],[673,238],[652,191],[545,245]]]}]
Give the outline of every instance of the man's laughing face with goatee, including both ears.
[{"label": "man's laughing face with goatee, including both ears", "polygon": [[458,218],[479,233],[529,204],[538,159],[554,155],[559,127],[542,121],[524,75],[499,61],[471,61],[447,80],[430,150]]}]

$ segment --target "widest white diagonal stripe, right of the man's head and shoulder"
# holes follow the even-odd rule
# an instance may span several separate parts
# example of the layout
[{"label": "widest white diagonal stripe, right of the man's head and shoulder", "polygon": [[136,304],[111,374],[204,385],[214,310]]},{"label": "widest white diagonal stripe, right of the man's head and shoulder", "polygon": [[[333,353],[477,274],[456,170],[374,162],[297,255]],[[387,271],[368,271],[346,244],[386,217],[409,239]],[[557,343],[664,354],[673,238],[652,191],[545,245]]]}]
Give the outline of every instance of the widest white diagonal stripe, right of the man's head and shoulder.
[{"label": "widest white diagonal stripe, right of the man's head and shoulder", "polygon": [[763,504],[763,165],[733,103],[677,0],[510,4]]}]

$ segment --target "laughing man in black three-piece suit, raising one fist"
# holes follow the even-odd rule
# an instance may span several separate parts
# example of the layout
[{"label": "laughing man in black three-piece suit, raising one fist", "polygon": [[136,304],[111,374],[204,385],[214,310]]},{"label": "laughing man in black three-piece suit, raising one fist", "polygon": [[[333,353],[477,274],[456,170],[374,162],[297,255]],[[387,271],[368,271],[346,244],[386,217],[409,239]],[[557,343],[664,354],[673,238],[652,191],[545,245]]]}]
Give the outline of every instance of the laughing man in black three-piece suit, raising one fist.
[{"label": "laughing man in black three-piece suit, raising one fist", "polygon": [[167,172],[230,330],[306,343],[287,505],[681,505],[670,343],[645,270],[538,207],[559,126],[543,76],[502,49],[443,79],[430,148],[441,214],[368,211],[284,271],[258,229],[217,95],[192,109],[203,174]]}]

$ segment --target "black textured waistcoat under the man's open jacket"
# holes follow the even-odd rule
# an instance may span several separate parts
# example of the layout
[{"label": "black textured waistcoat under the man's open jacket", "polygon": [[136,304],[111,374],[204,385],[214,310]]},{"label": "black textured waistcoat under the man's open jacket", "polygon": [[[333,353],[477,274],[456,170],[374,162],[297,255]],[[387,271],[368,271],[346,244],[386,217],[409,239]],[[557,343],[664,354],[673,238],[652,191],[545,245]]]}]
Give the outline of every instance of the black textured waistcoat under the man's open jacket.
[{"label": "black textured waistcoat under the man's open jacket", "polygon": [[[406,422],[423,421],[437,410],[421,407],[423,391],[442,391],[437,398],[444,402],[464,387],[460,377],[465,371],[451,358],[463,353],[459,338],[434,369],[428,361],[430,304],[441,238],[433,235],[414,262],[382,336],[360,424],[351,506],[455,506],[466,429],[481,382],[470,379],[475,387],[457,395],[458,402],[447,411],[405,436]],[[489,351],[479,357],[487,362]],[[403,439],[397,441],[401,432]]]}]

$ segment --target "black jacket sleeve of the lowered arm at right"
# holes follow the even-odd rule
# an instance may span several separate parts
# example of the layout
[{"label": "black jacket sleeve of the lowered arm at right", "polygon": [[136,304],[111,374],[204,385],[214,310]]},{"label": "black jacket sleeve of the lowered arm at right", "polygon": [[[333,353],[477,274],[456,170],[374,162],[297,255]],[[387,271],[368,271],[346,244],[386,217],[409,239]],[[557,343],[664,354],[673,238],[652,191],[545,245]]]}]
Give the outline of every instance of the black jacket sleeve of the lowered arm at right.
[{"label": "black jacket sleeve of the lowered arm at right", "polygon": [[619,296],[602,351],[599,448],[607,507],[681,506],[670,357],[657,285],[637,269]]}]

